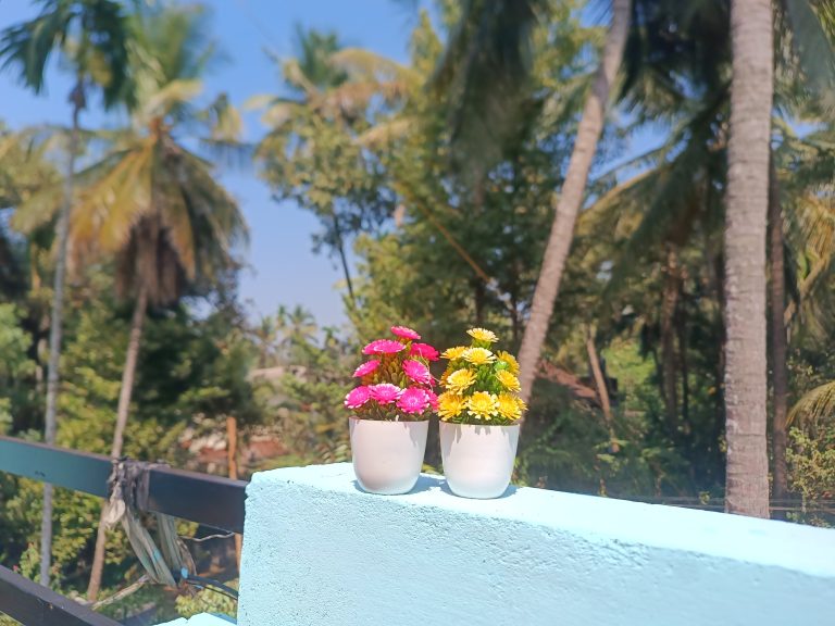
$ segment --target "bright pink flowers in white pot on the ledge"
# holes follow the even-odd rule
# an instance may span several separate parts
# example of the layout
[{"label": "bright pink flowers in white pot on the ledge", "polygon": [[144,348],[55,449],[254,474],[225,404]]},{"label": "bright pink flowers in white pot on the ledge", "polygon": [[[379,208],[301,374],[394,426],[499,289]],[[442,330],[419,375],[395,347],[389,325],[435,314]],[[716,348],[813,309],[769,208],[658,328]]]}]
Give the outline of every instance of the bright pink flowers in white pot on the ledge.
[{"label": "bright pink flowers in white pot on the ledge", "polygon": [[429,415],[437,406],[428,364],[438,351],[421,336],[392,326],[395,339],[372,341],[346,397],[357,481],[372,493],[406,493],[423,466]]}]

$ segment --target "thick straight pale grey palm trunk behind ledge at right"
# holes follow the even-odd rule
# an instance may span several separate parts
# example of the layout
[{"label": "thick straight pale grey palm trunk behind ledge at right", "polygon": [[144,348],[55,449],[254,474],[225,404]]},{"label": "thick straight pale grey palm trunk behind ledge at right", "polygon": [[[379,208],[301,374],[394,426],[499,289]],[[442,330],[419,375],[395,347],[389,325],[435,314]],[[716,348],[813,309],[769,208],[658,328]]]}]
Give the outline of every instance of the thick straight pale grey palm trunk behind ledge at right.
[{"label": "thick straight pale grey palm trunk behind ledge at right", "polygon": [[725,217],[725,510],[769,516],[765,231],[773,96],[771,0],[731,4]]}]

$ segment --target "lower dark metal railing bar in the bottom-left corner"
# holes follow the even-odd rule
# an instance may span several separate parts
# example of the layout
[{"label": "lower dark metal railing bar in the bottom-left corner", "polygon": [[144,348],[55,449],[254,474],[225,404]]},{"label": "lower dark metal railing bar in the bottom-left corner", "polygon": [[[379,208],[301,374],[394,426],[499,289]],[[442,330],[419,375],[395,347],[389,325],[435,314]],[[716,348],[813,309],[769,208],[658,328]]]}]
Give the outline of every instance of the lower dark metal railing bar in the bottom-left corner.
[{"label": "lower dark metal railing bar in the bottom-left corner", "polygon": [[24,626],[119,626],[119,622],[1,565],[0,613]]}]

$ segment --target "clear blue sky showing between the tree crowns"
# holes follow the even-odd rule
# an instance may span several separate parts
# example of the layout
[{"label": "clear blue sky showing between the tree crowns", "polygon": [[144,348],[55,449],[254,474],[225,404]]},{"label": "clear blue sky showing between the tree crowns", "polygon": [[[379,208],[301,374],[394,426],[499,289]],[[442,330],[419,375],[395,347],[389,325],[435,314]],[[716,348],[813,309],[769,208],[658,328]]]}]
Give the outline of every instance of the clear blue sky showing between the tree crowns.
[{"label": "clear blue sky showing between the tree crowns", "polygon": [[[388,0],[205,0],[212,10],[214,35],[226,57],[208,76],[205,95],[226,91],[236,104],[256,93],[275,92],[279,77],[264,49],[281,57],[292,54],[297,24],[336,30],[348,46],[369,48],[398,61],[407,60],[409,33],[416,13],[409,3]],[[29,0],[2,0],[0,28],[35,15]],[[0,120],[18,128],[29,124],[66,123],[70,80],[57,66],[49,71],[48,92],[35,97],[15,84],[10,73],[0,74]],[[83,125],[103,121],[90,111]],[[258,116],[246,116],[246,138],[258,139]],[[238,199],[250,225],[240,297],[253,315],[269,314],[279,304],[302,304],[321,324],[345,321],[336,287],[341,274],[335,260],[311,251],[316,221],[291,202],[276,203],[253,172],[222,172],[222,179]]]}]

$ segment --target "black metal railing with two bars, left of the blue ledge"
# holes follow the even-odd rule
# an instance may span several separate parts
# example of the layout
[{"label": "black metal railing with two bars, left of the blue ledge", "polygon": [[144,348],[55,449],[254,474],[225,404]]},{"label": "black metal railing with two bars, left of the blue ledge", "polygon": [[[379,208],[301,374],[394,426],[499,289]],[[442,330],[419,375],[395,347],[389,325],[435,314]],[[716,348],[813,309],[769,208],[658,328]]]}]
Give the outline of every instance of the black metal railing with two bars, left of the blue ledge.
[{"label": "black metal railing with two bars, left of the blue ledge", "polygon": [[[140,509],[244,531],[244,480],[125,461],[141,475]],[[108,456],[0,437],[0,472],[99,498],[108,498],[113,463]],[[24,626],[116,626],[117,622],[0,566],[0,613]]]}]

